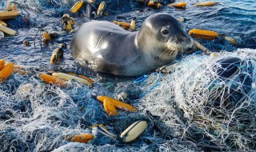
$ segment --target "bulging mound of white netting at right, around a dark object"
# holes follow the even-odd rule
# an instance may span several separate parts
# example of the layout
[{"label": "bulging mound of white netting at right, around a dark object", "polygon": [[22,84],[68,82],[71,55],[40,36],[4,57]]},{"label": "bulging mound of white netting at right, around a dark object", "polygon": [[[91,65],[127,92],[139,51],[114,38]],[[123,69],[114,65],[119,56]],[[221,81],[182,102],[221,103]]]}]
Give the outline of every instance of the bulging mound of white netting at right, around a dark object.
[{"label": "bulging mound of white netting at right, around a dark object", "polygon": [[[256,50],[190,56],[142,99],[162,132],[218,150],[255,150]],[[152,75],[148,84],[156,76]]]}]

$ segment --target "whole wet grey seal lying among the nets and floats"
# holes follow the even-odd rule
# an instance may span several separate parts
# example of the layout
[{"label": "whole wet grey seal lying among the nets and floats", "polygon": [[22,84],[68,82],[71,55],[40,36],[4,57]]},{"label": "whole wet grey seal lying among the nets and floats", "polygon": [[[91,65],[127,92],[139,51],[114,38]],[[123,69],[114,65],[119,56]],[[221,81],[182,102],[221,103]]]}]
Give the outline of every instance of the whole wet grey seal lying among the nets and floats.
[{"label": "whole wet grey seal lying among the nets and floats", "polygon": [[193,39],[176,18],[158,13],[146,18],[138,32],[111,22],[86,22],[74,34],[70,51],[79,64],[92,70],[137,76],[173,62],[192,46]]}]

